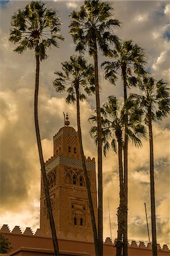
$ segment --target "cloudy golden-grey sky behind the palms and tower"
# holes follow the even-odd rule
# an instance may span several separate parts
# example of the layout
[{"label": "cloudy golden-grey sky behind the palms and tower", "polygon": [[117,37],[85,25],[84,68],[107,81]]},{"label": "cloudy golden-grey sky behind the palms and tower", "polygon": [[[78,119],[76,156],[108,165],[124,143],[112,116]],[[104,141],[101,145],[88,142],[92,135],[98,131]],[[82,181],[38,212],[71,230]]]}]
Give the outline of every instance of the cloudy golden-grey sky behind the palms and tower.
[{"label": "cloudy golden-grey sky behind the palms and tower", "polygon": [[[76,129],[76,108],[65,103],[65,94],[56,94],[52,81],[54,72],[61,69],[61,62],[74,53],[69,36],[69,17],[79,9],[80,1],[46,1],[47,6],[59,11],[63,22],[65,42],[60,48],[48,51],[49,58],[41,64],[39,92],[39,120],[44,159],[52,156],[53,135],[63,126],[63,112],[68,112],[71,126]],[[34,53],[23,55],[13,52],[9,43],[10,17],[27,1],[1,1],[1,212],[0,226],[9,224],[12,230],[19,225],[32,230],[39,228],[40,164],[34,129]],[[114,18],[122,22],[115,31],[121,39],[132,39],[146,49],[147,68],[156,79],[169,83],[169,1],[114,1]],[[92,61],[88,54],[86,58]],[[103,57],[99,56],[99,61]],[[111,94],[122,97],[122,81],[112,86],[103,80],[101,104]],[[85,155],[96,157],[96,146],[89,136],[88,118],[95,108],[94,97],[81,104],[82,133]],[[154,125],[155,193],[157,242],[168,243],[169,237],[169,119]],[[129,147],[128,187],[128,238],[148,241],[144,203],[147,205],[151,237],[150,176],[148,141],[143,148]],[[117,207],[119,204],[118,157],[109,152],[103,159],[104,237],[110,236],[107,197],[110,201],[113,239],[117,236]]]}]

